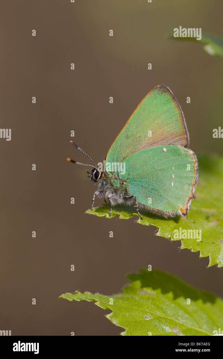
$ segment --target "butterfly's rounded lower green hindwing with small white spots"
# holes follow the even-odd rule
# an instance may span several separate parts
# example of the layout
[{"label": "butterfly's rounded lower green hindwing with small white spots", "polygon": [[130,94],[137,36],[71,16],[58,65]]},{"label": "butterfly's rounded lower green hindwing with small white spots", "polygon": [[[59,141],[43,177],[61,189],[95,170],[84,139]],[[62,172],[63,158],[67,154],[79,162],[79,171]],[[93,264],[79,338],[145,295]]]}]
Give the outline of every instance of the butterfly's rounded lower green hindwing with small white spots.
[{"label": "butterfly's rounded lower green hindwing with small white spots", "polygon": [[197,158],[191,150],[157,146],[131,154],[123,163],[125,173],[118,174],[137,202],[155,213],[188,213],[198,180]]}]

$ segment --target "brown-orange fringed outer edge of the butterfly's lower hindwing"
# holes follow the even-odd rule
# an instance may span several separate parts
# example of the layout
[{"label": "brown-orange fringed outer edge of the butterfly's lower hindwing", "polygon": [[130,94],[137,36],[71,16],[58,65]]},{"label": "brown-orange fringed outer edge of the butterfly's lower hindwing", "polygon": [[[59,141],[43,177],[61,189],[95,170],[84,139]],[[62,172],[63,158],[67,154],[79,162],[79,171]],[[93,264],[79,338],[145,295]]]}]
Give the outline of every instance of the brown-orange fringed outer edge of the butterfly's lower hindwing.
[{"label": "brown-orange fringed outer edge of the butterfly's lower hindwing", "polygon": [[189,213],[191,201],[195,198],[195,188],[198,185],[198,160],[197,160],[197,156],[195,155],[195,153],[192,150],[190,150],[188,148],[187,148],[187,150],[193,157],[195,173],[194,173],[194,182],[192,185],[192,189],[190,191],[190,195],[189,195],[188,199],[186,200],[185,207],[184,208],[181,207],[179,211],[162,211],[161,209],[145,206],[145,205],[141,204],[140,202],[138,202],[140,209],[145,209],[145,210],[149,211],[150,213],[153,213],[153,214],[159,215],[159,216],[163,216],[164,218],[176,217],[176,216],[186,216]]}]

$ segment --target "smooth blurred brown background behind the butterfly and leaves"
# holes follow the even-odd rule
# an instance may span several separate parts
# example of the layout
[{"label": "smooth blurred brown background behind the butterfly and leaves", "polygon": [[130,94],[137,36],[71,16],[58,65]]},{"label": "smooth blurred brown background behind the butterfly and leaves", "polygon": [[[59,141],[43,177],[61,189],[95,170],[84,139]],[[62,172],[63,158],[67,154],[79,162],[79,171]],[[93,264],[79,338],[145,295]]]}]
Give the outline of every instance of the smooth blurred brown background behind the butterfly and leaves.
[{"label": "smooth blurred brown background behind the butterfly and leaves", "polygon": [[198,155],[222,154],[223,140],[212,137],[213,128],[222,126],[222,60],[204,52],[199,41],[168,39],[180,25],[222,34],[222,7],[220,0],[1,3],[1,128],[11,128],[12,136],[0,139],[1,330],[118,335],[122,329],[93,303],[58,296],[78,289],[117,293],[126,273],[148,264],[223,297],[223,271],[207,269],[208,258],[180,251],[180,242],[154,236],[155,227],[135,218],[84,214],[95,187],[86,168],[66,161],[87,160],[69,144],[71,130],[81,148],[103,161],[158,84],[169,86],[181,104],[190,148]]}]

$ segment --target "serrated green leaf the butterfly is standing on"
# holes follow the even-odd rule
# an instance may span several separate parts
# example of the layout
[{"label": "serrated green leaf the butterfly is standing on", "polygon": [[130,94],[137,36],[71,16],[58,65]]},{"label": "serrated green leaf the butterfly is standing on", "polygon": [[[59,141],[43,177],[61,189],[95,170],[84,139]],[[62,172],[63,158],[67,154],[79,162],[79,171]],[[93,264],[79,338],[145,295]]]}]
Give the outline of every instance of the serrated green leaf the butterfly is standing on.
[{"label": "serrated green leaf the butterfly is standing on", "polygon": [[[223,159],[218,156],[203,155],[198,158],[199,182],[196,188],[196,199],[191,203],[190,213],[185,217],[165,219],[147,211],[141,210],[142,220],[134,207],[115,206],[112,208],[112,217],[116,214],[120,219],[129,219],[137,216],[137,223],[154,225],[159,228],[156,236],[176,237],[176,230],[201,229],[202,238],[181,239],[181,249],[187,248],[192,252],[200,252],[200,257],[209,257],[209,265],[223,266]],[[86,213],[99,217],[111,218],[109,205],[88,210]],[[175,231],[175,232],[174,232]],[[190,234],[191,237],[191,234]],[[197,241],[198,239],[198,241]]]}]

